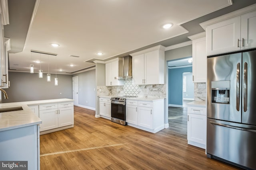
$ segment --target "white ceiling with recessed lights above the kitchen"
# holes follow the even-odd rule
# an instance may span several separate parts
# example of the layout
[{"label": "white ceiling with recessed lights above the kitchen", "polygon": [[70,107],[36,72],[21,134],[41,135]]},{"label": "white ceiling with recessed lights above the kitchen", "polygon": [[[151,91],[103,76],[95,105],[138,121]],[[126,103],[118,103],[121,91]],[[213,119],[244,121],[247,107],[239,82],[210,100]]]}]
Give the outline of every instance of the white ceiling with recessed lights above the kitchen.
[{"label": "white ceiling with recessed lights above the kitchen", "polygon": [[[44,71],[50,63],[50,72],[55,72],[57,63],[57,72],[76,72],[94,65],[84,61],[106,60],[185,34],[188,31],[180,24],[229,6],[230,1],[40,0],[25,48],[9,54],[9,66],[28,71],[33,63],[38,70],[40,64],[34,61],[41,60]],[[164,23],[173,23],[173,27],[163,29]],[[41,55],[40,59],[40,54],[30,50],[58,55]],[[104,54],[98,56],[97,52]]]}]

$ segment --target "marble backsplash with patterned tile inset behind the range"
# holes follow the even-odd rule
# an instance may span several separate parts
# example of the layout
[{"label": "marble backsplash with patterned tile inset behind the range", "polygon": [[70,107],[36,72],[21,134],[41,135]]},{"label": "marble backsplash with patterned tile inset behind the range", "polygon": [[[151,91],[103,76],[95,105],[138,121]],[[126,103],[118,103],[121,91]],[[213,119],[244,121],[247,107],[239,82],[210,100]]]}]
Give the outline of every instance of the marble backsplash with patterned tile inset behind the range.
[{"label": "marble backsplash with patterned tile inset behind the range", "polygon": [[97,96],[166,98],[166,84],[132,85],[132,79],[128,79],[124,86],[97,86]]}]

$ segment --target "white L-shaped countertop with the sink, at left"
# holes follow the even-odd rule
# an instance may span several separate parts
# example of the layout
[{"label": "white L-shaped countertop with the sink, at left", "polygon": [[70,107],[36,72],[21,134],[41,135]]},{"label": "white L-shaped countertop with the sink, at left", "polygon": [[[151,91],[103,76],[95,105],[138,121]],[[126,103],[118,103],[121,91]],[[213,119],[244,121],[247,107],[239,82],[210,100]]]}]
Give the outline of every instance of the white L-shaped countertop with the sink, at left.
[{"label": "white L-shaped countertop with the sink, at left", "polygon": [[0,131],[16,129],[31,125],[38,125],[42,120],[37,117],[28,105],[38,105],[57,102],[70,102],[72,99],[37,100],[28,102],[14,102],[0,104],[0,109],[8,107],[22,107],[23,110],[0,113]]}]

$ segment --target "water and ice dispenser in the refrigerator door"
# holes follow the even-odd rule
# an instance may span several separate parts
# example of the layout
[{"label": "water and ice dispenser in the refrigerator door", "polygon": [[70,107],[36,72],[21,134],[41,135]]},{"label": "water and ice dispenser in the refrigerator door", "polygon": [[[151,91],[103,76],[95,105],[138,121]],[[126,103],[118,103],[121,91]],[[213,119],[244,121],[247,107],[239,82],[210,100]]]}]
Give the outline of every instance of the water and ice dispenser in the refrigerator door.
[{"label": "water and ice dispenser in the refrigerator door", "polygon": [[212,81],[212,103],[229,104],[230,81]]}]

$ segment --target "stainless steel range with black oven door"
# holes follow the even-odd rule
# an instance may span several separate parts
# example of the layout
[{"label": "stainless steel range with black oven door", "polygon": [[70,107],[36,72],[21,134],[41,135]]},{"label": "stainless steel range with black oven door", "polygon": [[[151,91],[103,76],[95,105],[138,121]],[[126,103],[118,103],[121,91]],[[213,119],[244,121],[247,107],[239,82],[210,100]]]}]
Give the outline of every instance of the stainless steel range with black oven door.
[{"label": "stainless steel range with black oven door", "polygon": [[126,123],[126,108],[125,103],[127,98],[134,98],[134,96],[118,96],[112,97],[111,100],[111,121],[121,125]]}]

